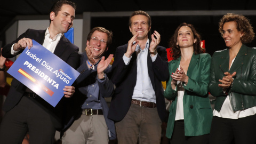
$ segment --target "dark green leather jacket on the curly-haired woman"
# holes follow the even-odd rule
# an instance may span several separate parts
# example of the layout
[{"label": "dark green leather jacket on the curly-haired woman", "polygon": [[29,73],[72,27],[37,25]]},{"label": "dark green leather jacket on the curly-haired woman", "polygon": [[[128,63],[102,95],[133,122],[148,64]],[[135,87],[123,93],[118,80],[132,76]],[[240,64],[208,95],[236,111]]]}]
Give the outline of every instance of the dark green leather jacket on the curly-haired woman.
[{"label": "dark green leather jacket on the curly-haired woman", "polygon": [[242,45],[236,55],[230,70],[229,50],[217,51],[212,55],[211,77],[209,92],[216,97],[214,109],[220,111],[227,94],[222,92],[219,79],[222,79],[223,72],[229,71],[236,76],[233,77],[233,86],[228,91],[233,111],[243,110],[256,106],[256,49]]}]

